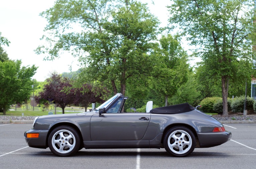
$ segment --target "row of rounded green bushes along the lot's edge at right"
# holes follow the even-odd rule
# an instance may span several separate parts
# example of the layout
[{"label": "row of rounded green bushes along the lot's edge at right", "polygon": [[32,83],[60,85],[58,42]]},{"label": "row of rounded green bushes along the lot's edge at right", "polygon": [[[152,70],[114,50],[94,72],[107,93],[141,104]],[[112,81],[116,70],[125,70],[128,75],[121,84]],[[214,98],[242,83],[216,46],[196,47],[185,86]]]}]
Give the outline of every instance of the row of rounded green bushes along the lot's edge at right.
[{"label": "row of rounded green bushes along the lot's edge at right", "polygon": [[[228,98],[228,111],[240,113],[244,111],[245,97],[235,97],[234,99]],[[200,103],[201,111],[205,113],[223,113],[222,98],[221,97],[207,97]],[[256,112],[256,102],[253,98],[246,98],[246,109],[248,111]]]}]

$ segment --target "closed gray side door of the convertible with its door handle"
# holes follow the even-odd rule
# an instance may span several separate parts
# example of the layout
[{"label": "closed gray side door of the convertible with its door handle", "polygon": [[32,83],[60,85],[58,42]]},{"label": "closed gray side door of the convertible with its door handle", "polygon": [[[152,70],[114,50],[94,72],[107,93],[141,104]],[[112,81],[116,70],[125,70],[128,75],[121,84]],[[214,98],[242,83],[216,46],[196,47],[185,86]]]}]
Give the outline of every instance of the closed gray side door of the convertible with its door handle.
[{"label": "closed gray side door of the convertible with its door handle", "polygon": [[104,113],[90,121],[91,140],[140,140],[149,125],[150,113]]}]

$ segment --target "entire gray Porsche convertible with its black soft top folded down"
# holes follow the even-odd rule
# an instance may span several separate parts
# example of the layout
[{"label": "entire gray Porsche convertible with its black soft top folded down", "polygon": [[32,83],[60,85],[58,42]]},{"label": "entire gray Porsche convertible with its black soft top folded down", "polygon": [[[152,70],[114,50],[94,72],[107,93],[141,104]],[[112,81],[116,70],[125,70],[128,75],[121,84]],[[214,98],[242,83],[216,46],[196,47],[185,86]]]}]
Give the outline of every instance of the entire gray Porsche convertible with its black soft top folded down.
[{"label": "entire gray Porsche convertible with its black soft top folded down", "polygon": [[165,148],[184,157],[231,138],[220,122],[188,103],[152,109],[149,101],[145,113],[124,113],[126,99],[118,93],[90,112],[36,117],[24,133],[26,142],[57,156],[82,148]]}]

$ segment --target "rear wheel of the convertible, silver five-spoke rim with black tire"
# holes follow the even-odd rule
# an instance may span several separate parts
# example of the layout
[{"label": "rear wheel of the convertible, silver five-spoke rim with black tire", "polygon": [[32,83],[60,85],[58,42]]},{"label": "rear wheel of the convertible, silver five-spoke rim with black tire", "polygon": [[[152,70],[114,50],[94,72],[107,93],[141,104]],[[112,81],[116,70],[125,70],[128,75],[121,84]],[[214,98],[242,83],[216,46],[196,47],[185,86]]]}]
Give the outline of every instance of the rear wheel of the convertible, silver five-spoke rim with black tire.
[{"label": "rear wheel of the convertible, silver five-spoke rim with black tire", "polygon": [[195,146],[195,135],[187,127],[173,127],[165,134],[164,147],[172,156],[185,157],[194,151]]}]

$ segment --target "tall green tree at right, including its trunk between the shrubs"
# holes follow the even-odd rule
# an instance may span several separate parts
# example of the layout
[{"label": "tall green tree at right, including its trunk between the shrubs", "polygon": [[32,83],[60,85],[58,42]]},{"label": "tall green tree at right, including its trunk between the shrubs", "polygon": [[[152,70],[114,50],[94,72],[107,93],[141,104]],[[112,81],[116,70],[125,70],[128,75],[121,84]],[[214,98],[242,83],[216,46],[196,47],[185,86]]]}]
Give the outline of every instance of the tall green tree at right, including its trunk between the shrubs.
[{"label": "tall green tree at right, including its trunk between the shrubs", "polygon": [[179,24],[191,44],[198,46],[194,51],[209,72],[206,78],[221,81],[223,115],[228,115],[230,80],[241,60],[252,59],[254,1],[174,0],[169,9],[170,22]]}]

